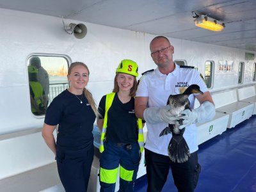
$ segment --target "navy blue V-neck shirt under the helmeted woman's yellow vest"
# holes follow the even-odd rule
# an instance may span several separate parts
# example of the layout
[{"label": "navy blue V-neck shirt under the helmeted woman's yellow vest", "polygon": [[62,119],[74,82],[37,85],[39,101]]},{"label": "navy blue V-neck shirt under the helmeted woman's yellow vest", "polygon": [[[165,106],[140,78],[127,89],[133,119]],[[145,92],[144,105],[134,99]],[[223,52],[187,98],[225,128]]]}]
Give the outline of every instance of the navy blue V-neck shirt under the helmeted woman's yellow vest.
[{"label": "navy blue V-neck shirt under the helmeted woman's yellow vest", "polygon": [[[99,113],[104,118],[106,95],[99,103]],[[134,113],[134,98],[123,104],[117,93],[108,111],[108,128],[106,138],[114,143],[138,142],[137,118]]]}]

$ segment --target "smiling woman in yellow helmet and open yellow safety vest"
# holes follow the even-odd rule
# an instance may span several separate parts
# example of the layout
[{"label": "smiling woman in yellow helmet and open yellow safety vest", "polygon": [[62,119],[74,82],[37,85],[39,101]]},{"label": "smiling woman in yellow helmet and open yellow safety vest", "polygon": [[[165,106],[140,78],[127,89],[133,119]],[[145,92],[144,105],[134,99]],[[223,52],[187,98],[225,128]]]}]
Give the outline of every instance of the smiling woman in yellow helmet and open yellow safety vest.
[{"label": "smiling woman in yellow helmet and open yellow safety vest", "polygon": [[116,68],[114,89],[100,100],[100,191],[115,191],[120,166],[119,191],[133,191],[143,151],[141,120],[134,113],[138,65],[122,60]]}]

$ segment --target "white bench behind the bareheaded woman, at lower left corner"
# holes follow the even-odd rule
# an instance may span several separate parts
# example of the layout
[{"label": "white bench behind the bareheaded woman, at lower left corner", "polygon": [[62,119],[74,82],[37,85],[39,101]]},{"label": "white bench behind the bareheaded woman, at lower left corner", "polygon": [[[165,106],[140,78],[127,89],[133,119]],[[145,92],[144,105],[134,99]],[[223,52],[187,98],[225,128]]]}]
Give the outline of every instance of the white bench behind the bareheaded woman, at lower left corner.
[{"label": "white bench behind the bareheaded woman, at lower left corner", "polygon": [[0,135],[0,191],[43,191],[61,185],[41,129]]}]

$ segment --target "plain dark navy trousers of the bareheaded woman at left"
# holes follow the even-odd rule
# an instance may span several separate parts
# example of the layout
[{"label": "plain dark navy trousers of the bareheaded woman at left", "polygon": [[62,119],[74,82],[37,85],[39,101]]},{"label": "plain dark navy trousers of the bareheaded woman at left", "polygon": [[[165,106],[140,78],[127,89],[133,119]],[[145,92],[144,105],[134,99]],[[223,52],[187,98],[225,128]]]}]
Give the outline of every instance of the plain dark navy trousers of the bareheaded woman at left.
[{"label": "plain dark navy trousers of the bareheaded woman at left", "polygon": [[57,166],[66,192],[86,192],[92,168],[94,149],[61,150],[57,147]]}]

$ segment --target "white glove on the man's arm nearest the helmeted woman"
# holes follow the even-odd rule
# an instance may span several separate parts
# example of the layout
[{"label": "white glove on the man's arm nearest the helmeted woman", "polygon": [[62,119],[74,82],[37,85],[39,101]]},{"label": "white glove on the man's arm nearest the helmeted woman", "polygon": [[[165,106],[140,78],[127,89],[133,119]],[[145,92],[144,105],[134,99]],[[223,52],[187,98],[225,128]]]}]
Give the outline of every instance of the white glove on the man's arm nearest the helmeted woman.
[{"label": "white glove on the man's arm nearest the helmeted woman", "polygon": [[177,124],[177,120],[179,120],[179,118],[172,115],[170,113],[170,109],[171,107],[169,105],[165,106],[164,108],[147,108],[143,112],[143,117],[149,124],[159,124],[163,122],[166,124]]}]

